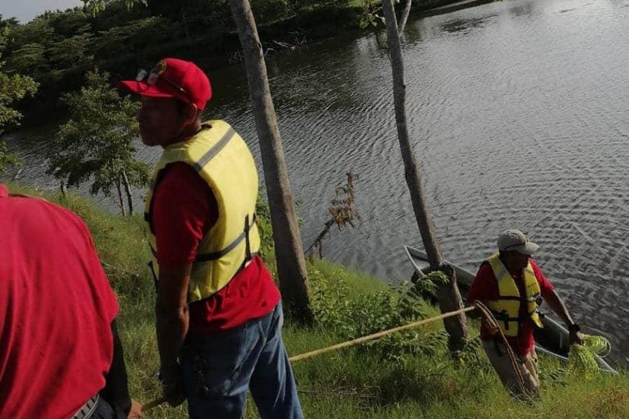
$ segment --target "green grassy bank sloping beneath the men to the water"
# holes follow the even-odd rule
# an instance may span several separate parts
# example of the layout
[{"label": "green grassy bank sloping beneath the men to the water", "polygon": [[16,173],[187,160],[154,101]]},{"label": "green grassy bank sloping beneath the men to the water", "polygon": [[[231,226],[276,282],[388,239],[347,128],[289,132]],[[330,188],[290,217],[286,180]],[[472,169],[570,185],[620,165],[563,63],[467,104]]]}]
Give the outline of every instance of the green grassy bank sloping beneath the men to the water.
[{"label": "green grassy bank sloping beneath the men to the water", "polygon": [[[10,185],[10,189],[20,189]],[[33,191],[24,190],[26,193]],[[154,290],[143,221],[121,219],[89,201],[52,195],[80,214],[120,297],[121,335],[131,393],[147,402],[159,395],[154,338]],[[268,232],[268,230],[267,230]],[[267,243],[268,234],[265,235]],[[284,340],[290,355],[432,316],[434,307],[377,279],[338,265],[309,264],[316,323],[299,328],[290,319]],[[472,336],[477,332],[472,330]],[[540,358],[542,402],[514,402],[503,390],[477,339],[451,355],[440,323],[294,365],[306,418],[629,418],[629,374],[586,379]],[[185,418],[185,409],[160,406],[148,418]],[[255,418],[247,406],[247,418]]]}]

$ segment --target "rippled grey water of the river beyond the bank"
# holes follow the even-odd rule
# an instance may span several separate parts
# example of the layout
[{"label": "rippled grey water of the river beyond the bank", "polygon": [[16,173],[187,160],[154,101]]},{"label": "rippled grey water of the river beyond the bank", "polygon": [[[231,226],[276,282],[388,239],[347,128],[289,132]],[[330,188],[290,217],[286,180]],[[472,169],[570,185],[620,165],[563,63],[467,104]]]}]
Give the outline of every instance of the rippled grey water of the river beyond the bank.
[{"label": "rippled grey water of the river beyond the bank", "polygon": [[[626,360],[629,0],[491,3],[410,22],[403,43],[410,133],[444,255],[476,270],[500,230],[528,231],[577,321]],[[411,274],[402,245],[421,240],[384,45],[384,31],[335,38],[270,57],[268,70],[305,247],[354,170],[363,221],[333,230],[324,254],[398,280]],[[208,115],[231,122],[261,168],[243,67],[210,78]],[[24,182],[57,187],[38,157],[54,128],[6,138],[27,162]]]}]

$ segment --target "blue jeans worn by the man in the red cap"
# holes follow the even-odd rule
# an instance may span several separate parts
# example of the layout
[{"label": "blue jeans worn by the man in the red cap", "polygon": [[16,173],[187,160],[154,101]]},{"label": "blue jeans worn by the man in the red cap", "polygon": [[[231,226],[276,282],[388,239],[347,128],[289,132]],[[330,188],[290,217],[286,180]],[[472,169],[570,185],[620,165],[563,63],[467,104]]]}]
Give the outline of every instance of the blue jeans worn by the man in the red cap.
[{"label": "blue jeans worn by the man in the red cap", "polygon": [[182,353],[190,418],[240,419],[247,390],[263,419],[302,419],[282,342],[282,302],[268,316],[218,335],[191,336]]}]

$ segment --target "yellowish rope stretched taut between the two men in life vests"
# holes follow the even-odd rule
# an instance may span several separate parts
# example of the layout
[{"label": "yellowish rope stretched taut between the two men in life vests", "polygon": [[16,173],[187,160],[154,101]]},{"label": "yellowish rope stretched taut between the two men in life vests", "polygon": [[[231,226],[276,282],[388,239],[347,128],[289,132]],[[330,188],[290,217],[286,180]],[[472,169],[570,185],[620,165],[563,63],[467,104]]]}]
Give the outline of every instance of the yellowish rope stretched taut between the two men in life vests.
[{"label": "yellowish rope stretched taut between the two men in life vests", "polygon": [[[455,311],[449,311],[448,313],[444,313],[444,314],[440,314],[439,316],[434,316],[431,318],[425,318],[424,320],[420,320],[420,321],[415,321],[413,323],[408,323],[407,325],[402,325],[402,326],[398,326],[397,328],[393,328],[393,329],[389,329],[389,330],[383,330],[382,332],[377,332],[377,333],[373,333],[372,335],[367,335],[367,336],[363,336],[363,337],[359,337],[356,339],[352,339],[351,341],[345,341],[342,342],[340,344],[335,344],[332,346],[328,346],[326,348],[321,348],[321,349],[317,349],[315,351],[310,351],[310,352],[306,352],[306,353],[302,353],[301,355],[295,355],[292,356],[291,358],[289,358],[289,362],[299,362],[302,360],[306,360],[308,358],[313,358],[317,355],[321,355],[322,353],[328,353],[331,351],[338,351],[339,349],[342,348],[349,348],[350,346],[356,346],[359,344],[362,344],[366,341],[370,341],[373,339],[378,339],[379,337],[384,337],[384,336],[388,336],[388,335],[393,335],[393,333],[396,332],[401,332],[403,330],[408,330],[408,329],[412,329],[412,328],[417,328],[417,326],[420,325],[426,325],[428,323],[433,323],[434,321],[438,321],[438,320],[442,320],[444,318],[449,318],[449,317],[453,317],[453,316],[457,316],[458,314],[462,314],[462,313],[466,313],[468,311],[473,311],[473,310],[479,310],[482,314],[482,316],[485,318],[485,320],[492,325],[493,327],[496,328],[496,330],[498,330],[498,334],[500,335],[500,337],[502,338],[503,342],[505,343],[505,348],[507,350],[507,354],[509,355],[509,360],[511,360],[511,366],[513,368],[514,374],[516,376],[516,379],[518,381],[518,384],[521,387],[522,392],[526,392],[525,387],[524,387],[524,378],[522,376],[522,373],[517,365],[517,361],[516,361],[516,356],[511,348],[511,346],[509,345],[509,342],[507,342],[507,338],[505,337],[505,335],[503,334],[502,330],[500,330],[500,327],[498,326],[498,322],[496,322],[496,318],[493,317],[493,314],[491,314],[491,311],[489,311],[489,309],[487,307],[485,307],[484,304],[482,304],[482,302],[479,301],[475,301],[473,306],[470,307],[465,307],[463,309],[458,309]],[[142,408],[142,411],[148,411],[152,408],[154,408],[155,406],[158,406],[159,404],[162,404],[166,402],[166,397],[162,396],[159,397],[158,399],[153,400],[152,402],[149,402],[147,404],[145,404]]]}]

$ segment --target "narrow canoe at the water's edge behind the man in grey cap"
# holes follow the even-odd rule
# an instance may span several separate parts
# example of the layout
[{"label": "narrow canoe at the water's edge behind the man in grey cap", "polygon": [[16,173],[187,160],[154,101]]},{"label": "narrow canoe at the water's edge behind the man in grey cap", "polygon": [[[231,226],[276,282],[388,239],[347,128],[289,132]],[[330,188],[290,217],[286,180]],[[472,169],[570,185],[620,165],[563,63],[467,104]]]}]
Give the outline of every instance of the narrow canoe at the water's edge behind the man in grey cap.
[{"label": "narrow canoe at the water's edge behind the man in grey cap", "polygon": [[[426,272],[430,269],[426,252],[410,246],[405,246],[404,250],[412,263],[417,276],[419,278],[425,277]],[[465,270],[448,260],[445,260],[445,263],[454,268],[458,288],[461,290],[462,295],[467,295],[468,290],[472,285],[472,281],[474,281],[475,274],[472,274],[472,272]],[[538,310],[538,312],[540,313],[540,318],[542,318],[544,328],[535,328],[535,351],[544,353],[545,355],[552,356],[559,360],[567,361],[567,353],[570,348],[570,345],[568,344],[568,336],[570,334],[563,325],[557,323],[549,316],[546,316],[544,311]],[[617,374],[616,371],[598,355],[596,355],[596,362],[598,362],[602,371]]]}]

